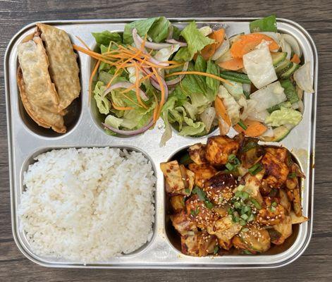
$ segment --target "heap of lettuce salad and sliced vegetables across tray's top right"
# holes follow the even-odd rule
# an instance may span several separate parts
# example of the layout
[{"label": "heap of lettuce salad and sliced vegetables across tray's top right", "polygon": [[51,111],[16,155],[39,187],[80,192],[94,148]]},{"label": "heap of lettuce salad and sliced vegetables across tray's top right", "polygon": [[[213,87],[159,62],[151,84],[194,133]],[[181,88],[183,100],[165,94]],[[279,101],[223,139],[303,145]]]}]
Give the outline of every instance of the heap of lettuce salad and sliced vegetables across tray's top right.
[{"label": "heap of lettuce salad and sliced vegetables across tray's top right", "polygon": [[161,146],[172,128],[193,137],[233,128],[279,141],[300,123],[303,92],[313,92],[310,64],[275,16],[252,21],[248,34],[228,35],[222,23],[179,27],[147,18],[92,33],[95,50],[74,45],[97,60],[90,91],[106,133],[144,133],[161,117]]}]

